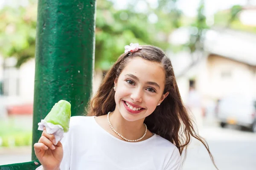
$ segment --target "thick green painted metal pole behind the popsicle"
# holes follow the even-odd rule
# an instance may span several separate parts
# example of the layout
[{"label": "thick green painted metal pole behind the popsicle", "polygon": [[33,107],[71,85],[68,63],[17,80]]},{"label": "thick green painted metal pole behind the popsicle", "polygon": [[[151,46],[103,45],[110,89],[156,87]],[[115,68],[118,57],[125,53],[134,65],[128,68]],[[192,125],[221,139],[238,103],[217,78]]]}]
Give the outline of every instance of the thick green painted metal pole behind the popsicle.
[{"label": "thick green painted metal pole behind the popsicle", "polygon": [[35,54],[33,145],[38,122],[61,99],[71,116],[81,115],[92,91],[95,46],[95,0],[38,0]]}]

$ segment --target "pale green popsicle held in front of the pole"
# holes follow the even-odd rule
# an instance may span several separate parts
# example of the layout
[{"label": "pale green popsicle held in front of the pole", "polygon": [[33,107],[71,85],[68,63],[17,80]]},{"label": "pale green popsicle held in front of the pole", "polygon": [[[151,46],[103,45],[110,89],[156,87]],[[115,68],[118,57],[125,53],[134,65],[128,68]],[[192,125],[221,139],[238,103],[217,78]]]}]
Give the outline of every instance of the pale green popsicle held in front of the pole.
[{"label": "pale green popsicle held in front of the pole", "polygon": [[66,100],[60,100],[58,103],[52,107],[52,110],[44,118],[46,122],[52,123],[54,125],[61,125],[64,132],[69,130],[71,116],[71,104]]}]

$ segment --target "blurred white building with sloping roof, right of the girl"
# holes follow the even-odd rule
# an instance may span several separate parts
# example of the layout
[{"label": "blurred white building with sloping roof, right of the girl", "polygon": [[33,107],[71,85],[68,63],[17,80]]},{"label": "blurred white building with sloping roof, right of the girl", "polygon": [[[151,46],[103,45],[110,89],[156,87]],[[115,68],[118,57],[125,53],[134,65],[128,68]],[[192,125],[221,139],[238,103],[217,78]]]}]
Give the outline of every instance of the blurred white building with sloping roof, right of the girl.
[{"label": "blurred white building with sloping roof, right of the girl", "polygon": [[198,62],[189,63],[188,52],[171,57],[183,101],[189,102],[192,84],[202,105],[212,113],[216,102],[225,96],[241,94],[256,98],[255,46],[255,34],[215,29],[207,31],[204,56]]}]

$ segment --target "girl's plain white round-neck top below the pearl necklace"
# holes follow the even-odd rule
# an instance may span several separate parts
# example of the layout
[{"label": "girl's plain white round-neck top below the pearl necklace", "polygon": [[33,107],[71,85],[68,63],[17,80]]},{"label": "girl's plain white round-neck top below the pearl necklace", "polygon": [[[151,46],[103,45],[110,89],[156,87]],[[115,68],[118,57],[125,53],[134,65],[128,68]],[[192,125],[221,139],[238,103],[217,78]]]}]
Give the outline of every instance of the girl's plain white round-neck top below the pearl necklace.
[{"label": "girl's plain white round-neck top below the pearl necklace", "polygon": [[154,134],[141,142],[122,141],[94,117],[71,117],[70,130],[61,139],[61,170],[179,170],[180,153],[168,140]]}]

